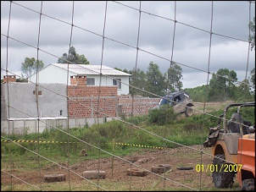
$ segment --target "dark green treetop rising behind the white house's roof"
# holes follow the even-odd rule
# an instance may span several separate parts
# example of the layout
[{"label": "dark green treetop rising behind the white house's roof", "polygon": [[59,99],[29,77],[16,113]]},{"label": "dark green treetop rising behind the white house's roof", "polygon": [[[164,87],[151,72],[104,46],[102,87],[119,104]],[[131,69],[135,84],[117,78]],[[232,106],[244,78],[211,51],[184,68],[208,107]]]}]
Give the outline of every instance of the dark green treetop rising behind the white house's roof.
[{"label": "dark green treetop rising behind the white house's roof", "polygon": [[76,64],[90,64],[87,58],[82,54],[75,52],[75,47],[70,47],[69,54],[63,53],[61,58],[58,58],[58,63],[76,63]]}]

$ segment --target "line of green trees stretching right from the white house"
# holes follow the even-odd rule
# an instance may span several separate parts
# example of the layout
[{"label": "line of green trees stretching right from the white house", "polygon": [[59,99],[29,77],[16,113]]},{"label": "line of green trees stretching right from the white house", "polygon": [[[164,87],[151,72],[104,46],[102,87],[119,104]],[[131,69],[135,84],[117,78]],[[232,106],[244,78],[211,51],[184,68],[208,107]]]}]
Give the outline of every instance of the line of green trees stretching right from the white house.
[{"label": "line of green trees stretching right from the white house", "polygon": [[[153,62],[149,63],[146,73],[141,69],[123,71],[131,74],[131,95],[155,97],[182,91],[182,69],[176,63],[170,65],[167,74],[161,74],[159,65]],[[219,69],[212,74],[209,85],[186,88],[183,91],[187,91],[193,101],[254,101],[255,90],[251,87],[255,87],[255,68],[251,70],[248,79],[242,82],[237,81],[234,70]]]}]

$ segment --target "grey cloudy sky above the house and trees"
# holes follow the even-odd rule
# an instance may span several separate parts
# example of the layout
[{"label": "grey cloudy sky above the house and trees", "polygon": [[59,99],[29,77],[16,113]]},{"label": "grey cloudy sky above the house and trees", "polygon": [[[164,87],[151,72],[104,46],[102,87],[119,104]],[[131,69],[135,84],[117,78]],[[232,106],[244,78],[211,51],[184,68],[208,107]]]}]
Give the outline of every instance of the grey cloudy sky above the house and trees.
[{"label": "grey cloudy sky above the house and trees", "polygon": [[254,1],[1,1],[1,78],[6,69],[20,75],[24,59],[37,57],[39,36],[45,66],[68,53],[71,40],[91,64],[111,68],[146,72],[152,61],[164,74],[173,60],[183,88],[206,85],[218,69],[234,70],[242,81],[255,67],[253,17]]}]

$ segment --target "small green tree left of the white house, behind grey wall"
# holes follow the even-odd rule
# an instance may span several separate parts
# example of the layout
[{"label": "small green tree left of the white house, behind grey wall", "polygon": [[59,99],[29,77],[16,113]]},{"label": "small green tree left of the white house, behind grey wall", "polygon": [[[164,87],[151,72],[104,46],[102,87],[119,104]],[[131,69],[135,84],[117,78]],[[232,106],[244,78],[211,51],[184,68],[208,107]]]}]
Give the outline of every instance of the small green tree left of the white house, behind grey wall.
[{"label": "small green tree left of the white house, behind grey wall", "polygon": [[31,74],[36,73],[36,70],[42,69],[44,63],[42,60],[36,60],[36,58],[25,58],[24,62],[21,63],[22,78],[27,79]]}]

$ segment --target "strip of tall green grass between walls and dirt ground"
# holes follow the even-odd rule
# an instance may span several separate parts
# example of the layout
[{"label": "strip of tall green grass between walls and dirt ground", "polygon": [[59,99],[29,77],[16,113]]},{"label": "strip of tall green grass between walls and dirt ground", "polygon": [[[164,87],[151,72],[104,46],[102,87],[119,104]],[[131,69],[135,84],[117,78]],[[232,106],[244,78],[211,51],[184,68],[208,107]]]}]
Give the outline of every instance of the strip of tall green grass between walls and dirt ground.
[{"label": "strip of tall green grass between walls and dirt ground", "polygon": [[[156,112],[154,112],[155,116]],[[58,128],[62,131],[58,129],[45,129],[42,134],[12,134],[10,139],[32,140],[32,143],[20,143],[20,145],[31,151],[40,151],[43,156],[53,159],[56,156],[59,159],[65,158],[67,154],[81,156],[82,150],[90,153],[90,158],[96,158],[99,149],[111,153],[113,151],[113,141],[123,144],[115,145],[116,155],[128,154],[129,151],[136,150],[135,147],[138,145],[171,148],[178,146],[176,143],[181,145],[203,145],[209,134],[209,126],[214,126],[217,122],[213,117],[203,117],[203,115],[194,115],[180,120],[172,118],[172,121],[164,125],[152,123],[151,120],[149,116],[143,115],[126,118],[125,121],[129,123],[113,120],[103,124],[94,124],[91,127]],[[132,126],[131,123],[136,124],[136,126]],[[79,140],[66,133],[73,135]],[[54,143],[38,144],[34,142],[38,140],[54,141]],[[67,142],[70,142],[70,144]],[[8,153],[9,145],[6,145],[7,143],[2,144],[2,153]],[[11,144],[10,146],[10,151],[18,156],[29,153],[29,151],[26,151],[25,148],[19,145]],[[101,153],[101,156],[109,155]]]}]

